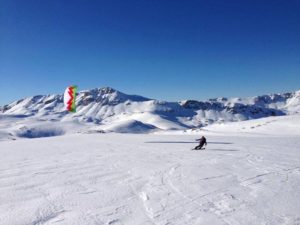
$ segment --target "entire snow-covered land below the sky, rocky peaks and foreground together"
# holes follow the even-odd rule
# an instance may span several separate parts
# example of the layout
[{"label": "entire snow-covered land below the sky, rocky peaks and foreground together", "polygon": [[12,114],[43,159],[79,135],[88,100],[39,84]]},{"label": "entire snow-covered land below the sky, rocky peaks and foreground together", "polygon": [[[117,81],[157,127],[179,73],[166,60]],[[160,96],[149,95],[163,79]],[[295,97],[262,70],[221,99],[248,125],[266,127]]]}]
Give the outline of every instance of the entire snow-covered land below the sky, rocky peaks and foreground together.
[{"label": "entire snow-covered land below the sky, rocky peaks and foreground together", "polygon": [[[172,103],[105,88],[79,93],[74,114],[60,95],[4,106],[0,224],[299,224],[299,99]],[[202,121],[213,124],[179,130]],[[191,151],[200,135],[205,150]]]}]

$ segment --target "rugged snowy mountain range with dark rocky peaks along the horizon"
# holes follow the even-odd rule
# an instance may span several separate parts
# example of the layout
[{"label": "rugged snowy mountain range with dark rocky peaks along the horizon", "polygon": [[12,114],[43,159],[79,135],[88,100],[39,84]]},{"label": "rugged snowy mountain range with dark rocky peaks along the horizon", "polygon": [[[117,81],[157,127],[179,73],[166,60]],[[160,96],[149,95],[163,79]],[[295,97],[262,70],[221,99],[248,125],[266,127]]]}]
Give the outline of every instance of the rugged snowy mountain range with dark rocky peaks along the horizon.
[{"label": "rugged snowy mountain range with dark rocky peaks along the horizon", "polygon": [[189,129],[213,123],[297,114],[300,112],[300,91],[249,98],[166,102],[105,87],[79,92],[76,102],[77,111],[69,113],[65,110],[62,95],[37,95],[0,107],[0,115],[74,121],[116,132]]}]

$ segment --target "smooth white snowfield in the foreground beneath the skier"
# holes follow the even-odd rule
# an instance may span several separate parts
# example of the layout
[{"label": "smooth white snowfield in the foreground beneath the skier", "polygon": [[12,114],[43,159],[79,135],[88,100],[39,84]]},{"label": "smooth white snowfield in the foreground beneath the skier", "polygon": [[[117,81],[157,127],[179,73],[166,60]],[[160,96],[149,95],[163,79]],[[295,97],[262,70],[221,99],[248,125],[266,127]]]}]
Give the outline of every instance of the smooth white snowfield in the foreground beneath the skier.
[{"label": "smooth white snowfield in the foreground beneath the skier", "polygon": [[1,141],[0,224],[299,225],[299,117],[283,118]]}]

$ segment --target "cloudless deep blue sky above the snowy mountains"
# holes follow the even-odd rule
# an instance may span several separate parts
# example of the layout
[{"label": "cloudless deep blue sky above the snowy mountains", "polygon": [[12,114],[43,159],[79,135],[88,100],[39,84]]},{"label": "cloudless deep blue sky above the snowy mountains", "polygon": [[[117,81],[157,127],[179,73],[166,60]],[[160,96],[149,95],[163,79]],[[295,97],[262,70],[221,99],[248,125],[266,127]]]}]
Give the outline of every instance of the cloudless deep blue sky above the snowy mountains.
[{"label": "cloudless deep blue sky above the snowy mountains", "polygon": [[0,105],[111,86],[161,100],[300,89],[299,0],[1,0]]}]

